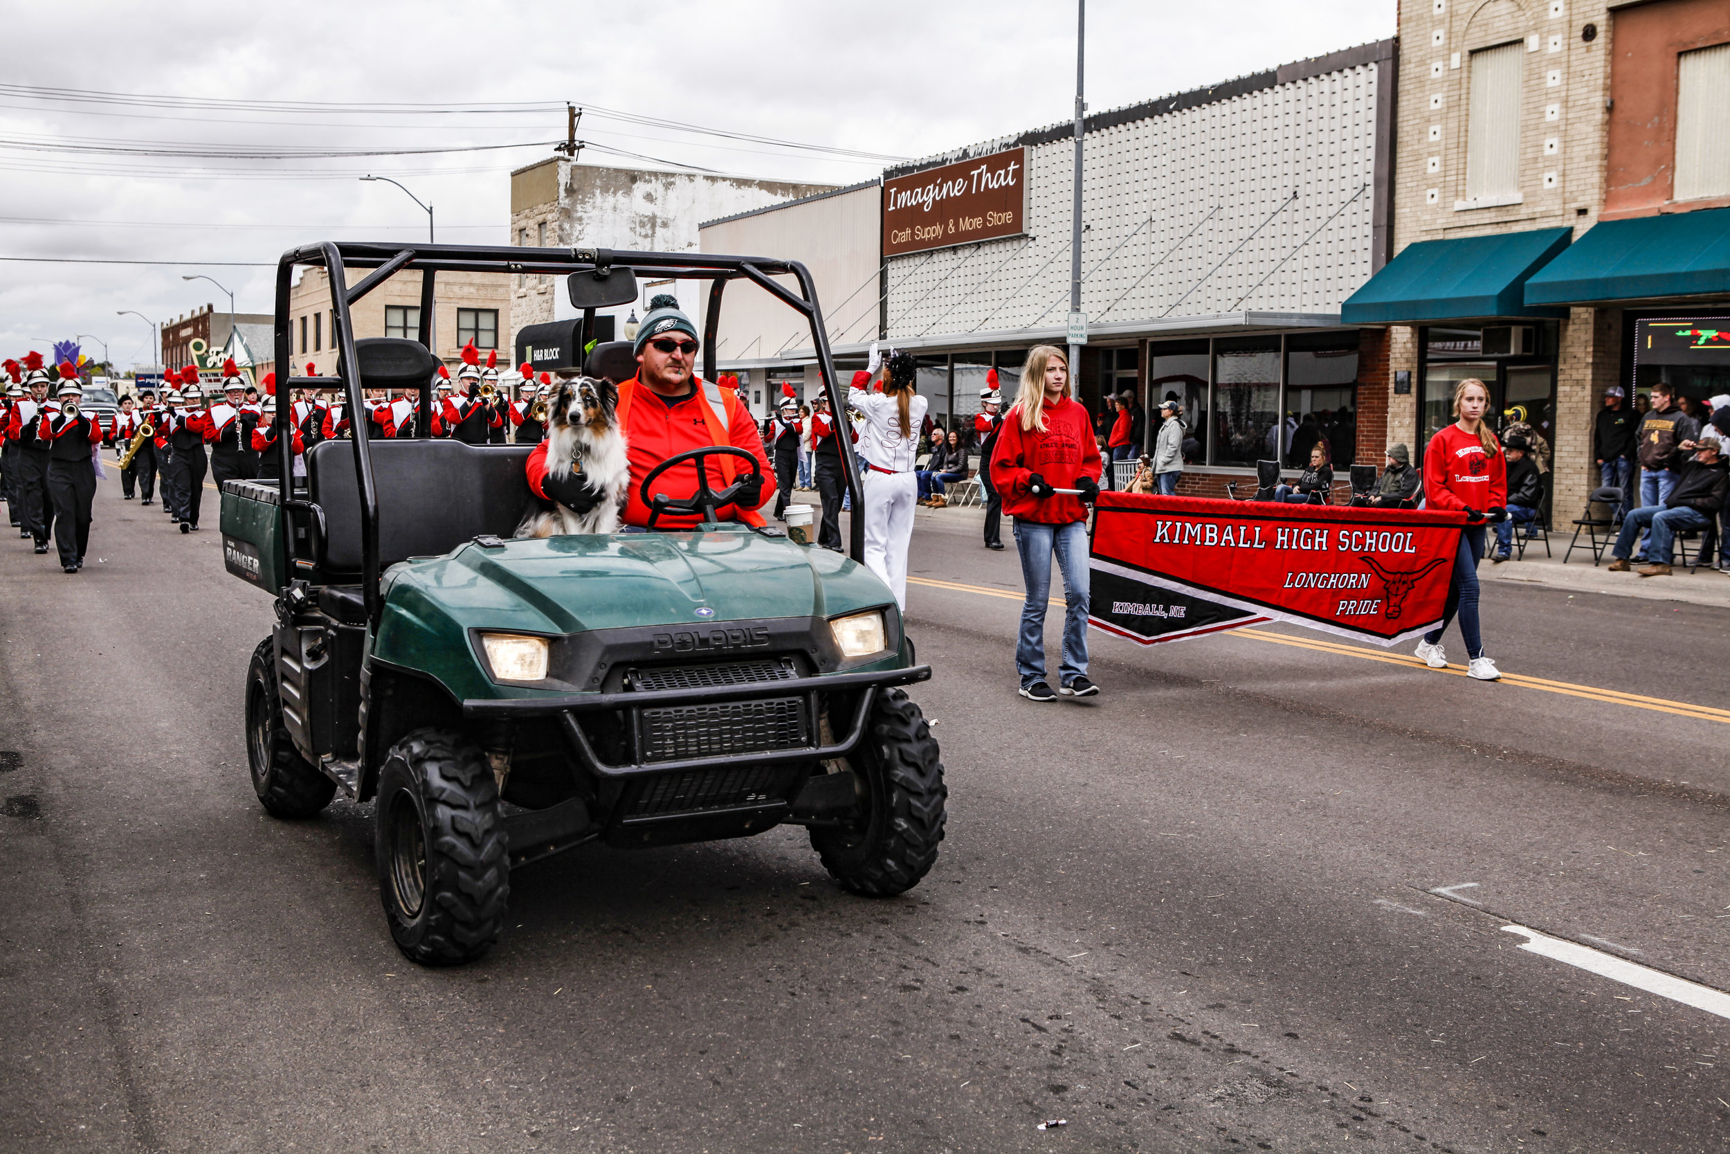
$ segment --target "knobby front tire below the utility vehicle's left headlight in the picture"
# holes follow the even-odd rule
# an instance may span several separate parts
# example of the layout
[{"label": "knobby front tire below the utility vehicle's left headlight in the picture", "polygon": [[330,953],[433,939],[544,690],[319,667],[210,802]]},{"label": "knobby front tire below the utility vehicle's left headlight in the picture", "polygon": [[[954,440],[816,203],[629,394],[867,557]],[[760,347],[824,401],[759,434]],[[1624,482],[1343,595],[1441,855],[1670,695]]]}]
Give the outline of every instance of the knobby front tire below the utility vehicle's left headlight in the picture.
[{"label": "knobby front tire below the utility vehicle's left headlight in the picture", "polygon": [[486,758],[422,728],[391,747],[375,810],[379,894],[391,936],[420,965],[486,953],[505,926],[510,863]]}]

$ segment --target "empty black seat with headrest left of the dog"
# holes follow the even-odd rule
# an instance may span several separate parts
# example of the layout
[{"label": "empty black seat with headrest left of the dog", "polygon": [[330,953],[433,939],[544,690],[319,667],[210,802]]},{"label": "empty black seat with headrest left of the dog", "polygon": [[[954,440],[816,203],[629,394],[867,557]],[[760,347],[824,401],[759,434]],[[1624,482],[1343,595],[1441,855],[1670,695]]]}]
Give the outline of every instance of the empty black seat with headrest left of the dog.
[{"label": "empty black seat with headrest left of the dog", "polygon": [[[362,389],[412,389],[431,381],[438,360],[419,341],[372,337],[355,341]],[[339,367],[341,370],[341,367]],[[408,557],[448,554],[474,536],[509,538],[529,503],[529,445],[464,445],[450,439],[368,439],[379,498],[379,571]],[[360,484],[355,443],[320,441],[306,453],[308,498],[313,514],[317,564],[327,574],[362,571]],[[332,593],[325,607],[346,619],[351,606]]]}]

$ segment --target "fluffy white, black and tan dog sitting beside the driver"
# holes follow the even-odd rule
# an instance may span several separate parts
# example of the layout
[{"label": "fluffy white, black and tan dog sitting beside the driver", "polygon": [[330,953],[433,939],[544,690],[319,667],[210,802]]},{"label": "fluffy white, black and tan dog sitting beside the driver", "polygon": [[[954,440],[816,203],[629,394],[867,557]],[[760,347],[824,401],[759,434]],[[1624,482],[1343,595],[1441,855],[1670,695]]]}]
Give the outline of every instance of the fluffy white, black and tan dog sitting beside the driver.
[{"label": "fluffy white, black and tan dog sitting beside the driver", "polygon": [[588,512],[547,497],[533,497],[517,536],[564,533],[616,533],[631,465],[625,455],[625,431],[618,419],[619,386],[604,377],[578,377],[559,386],[547,407],[547,476],[567,478],[581,471],[600,503]]}]

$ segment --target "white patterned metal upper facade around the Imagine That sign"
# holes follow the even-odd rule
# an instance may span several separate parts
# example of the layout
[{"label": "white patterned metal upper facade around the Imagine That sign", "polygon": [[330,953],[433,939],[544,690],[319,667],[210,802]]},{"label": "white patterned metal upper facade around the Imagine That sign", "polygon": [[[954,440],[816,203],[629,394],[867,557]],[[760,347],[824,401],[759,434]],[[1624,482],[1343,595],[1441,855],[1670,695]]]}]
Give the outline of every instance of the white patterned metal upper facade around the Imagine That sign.
[{"label": "white patterned metal upper facade around the Imagine That sign", "polygon": [[[1381,62],[1266,78],[1218,100],[1154,102],[1086,133],[1081,308],[1092,322],[1332,313],[1370,277]],[[1026,137],[931,163],[1017,142]],[[1031,239],[889,261],[891,339],[1062,324],[1071,149],[1050,131],[1029,142]]]}]

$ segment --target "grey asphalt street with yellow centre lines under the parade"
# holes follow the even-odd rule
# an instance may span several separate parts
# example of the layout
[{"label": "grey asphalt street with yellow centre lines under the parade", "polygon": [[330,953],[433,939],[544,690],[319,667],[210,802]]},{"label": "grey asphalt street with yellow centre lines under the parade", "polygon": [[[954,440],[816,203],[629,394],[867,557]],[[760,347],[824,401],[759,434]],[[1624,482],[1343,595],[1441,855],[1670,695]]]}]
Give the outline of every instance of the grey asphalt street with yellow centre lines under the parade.
[{"label": "grey asphalt street with yellow centre lines under the parade", "polygon": [[182,536],[104,483],[78,576],[0,540],[0,1149],[1730,1147],[1723,1016],[1503,929],[1730,990],[1730,611],[1486,587],[1495,685],[1093,633],[1104,692],[1033,704],[1014,548],[922,510],[924,884],[851,896],[799,829],[583,848],[429,971],[370,806],[253,796],[272,614],[215,497]]}]

